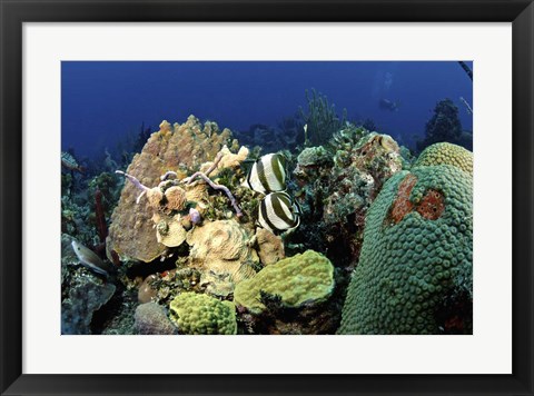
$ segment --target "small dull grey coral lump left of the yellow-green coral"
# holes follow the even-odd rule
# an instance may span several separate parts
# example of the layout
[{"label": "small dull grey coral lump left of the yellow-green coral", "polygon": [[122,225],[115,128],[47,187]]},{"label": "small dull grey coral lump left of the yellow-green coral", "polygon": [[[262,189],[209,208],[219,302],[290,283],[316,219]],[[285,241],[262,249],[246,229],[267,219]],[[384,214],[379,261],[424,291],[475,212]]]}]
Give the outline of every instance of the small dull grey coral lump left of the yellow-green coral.
[{"label": "small dull grey coral lump left of the yellow-green coral", "polygon": [[164,307],[156,303],[146,303],[137,307],[135,328],[144,335],[178,334],[176,326],[169,320]]}]

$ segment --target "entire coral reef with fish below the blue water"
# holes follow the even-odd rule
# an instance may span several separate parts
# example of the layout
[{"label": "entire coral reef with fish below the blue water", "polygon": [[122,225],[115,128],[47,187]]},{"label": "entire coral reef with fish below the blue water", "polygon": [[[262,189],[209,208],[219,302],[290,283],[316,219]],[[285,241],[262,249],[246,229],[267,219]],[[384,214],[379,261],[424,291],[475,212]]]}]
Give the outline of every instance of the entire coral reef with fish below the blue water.
[{"label": "entire coral reef with fish below the blue water", "polygon": [[[326,101],[313,110],[291,152],[164,121],[89,184],[99,257],[63,155],[63,333],[95,331],[119,298],[108,334],[472,334],[473,154],[434,142],[415,158]],[[80,304],[88,289],[100,298]]]}]

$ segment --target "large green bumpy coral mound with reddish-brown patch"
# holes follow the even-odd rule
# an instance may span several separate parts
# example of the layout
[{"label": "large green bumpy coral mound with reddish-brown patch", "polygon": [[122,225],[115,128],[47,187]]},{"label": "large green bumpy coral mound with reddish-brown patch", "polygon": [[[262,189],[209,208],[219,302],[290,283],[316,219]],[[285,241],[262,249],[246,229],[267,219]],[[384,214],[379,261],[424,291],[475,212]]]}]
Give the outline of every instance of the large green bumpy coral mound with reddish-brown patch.
[{"label": "large green bumpy coral mound with reddish-brown patch", "polygon": [[472,304],[472,267],[471,176],[447,165],[398,172],[368,211],[338,333],[469,333],[472,318],[456,316]]}]

